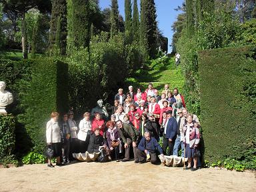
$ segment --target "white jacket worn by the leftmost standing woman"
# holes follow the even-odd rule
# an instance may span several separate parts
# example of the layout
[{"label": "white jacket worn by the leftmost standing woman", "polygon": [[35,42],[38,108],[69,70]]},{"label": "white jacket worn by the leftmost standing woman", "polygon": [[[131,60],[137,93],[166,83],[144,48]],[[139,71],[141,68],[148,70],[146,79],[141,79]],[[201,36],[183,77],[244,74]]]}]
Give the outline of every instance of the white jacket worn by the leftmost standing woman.
[{"label": "white jacket worn by the leftmost standing woman", "polygon": [[46,124],[46,142],[47,143],[60,143],[61,134],[59,133],[58,122],[51,119]]}]

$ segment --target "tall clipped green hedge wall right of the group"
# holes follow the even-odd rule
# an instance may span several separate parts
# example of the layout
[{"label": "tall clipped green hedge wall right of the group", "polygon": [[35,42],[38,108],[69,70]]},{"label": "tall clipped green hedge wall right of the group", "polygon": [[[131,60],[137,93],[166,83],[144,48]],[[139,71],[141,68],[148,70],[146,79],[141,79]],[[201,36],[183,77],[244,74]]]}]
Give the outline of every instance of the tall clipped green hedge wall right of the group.
[{"label": "tall clipped green hedge wall right of the group", "polygon": [[205,160],[255,155],[256,47],[199,53]]}]

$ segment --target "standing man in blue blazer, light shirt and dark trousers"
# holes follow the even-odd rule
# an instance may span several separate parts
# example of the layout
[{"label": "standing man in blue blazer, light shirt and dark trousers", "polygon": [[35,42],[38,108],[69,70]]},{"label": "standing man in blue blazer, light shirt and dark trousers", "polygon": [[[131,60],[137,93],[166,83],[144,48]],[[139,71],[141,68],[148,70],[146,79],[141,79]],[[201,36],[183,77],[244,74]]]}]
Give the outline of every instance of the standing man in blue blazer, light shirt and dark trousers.
[{"label": "standing man in blue blazer, light shirt and dark trousers", "polygon": [[[166,114],[168,120],[165,123],[163,131],[163,153],[169,156],[173,155],[173,145],[175,143],[178,125],[176,119],[171,115],[171,110],[167,111]],[[169,149],[168,152],[166,153],[167,146],[169,147]]]}]

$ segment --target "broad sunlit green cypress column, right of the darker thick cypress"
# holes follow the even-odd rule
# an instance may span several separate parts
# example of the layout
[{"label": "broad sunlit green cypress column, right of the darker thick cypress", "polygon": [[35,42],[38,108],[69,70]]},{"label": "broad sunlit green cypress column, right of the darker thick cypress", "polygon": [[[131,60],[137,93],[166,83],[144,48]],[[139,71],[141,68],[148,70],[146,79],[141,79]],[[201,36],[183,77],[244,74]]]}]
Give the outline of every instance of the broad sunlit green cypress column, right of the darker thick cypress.
[{"label": "broad sunlit green cypress column, right of the darker thick cypress", "polygon": [[90,43],[91,22],[89,19],[89,0],[73,0],[72,37],[74,46],[88,47]]}]

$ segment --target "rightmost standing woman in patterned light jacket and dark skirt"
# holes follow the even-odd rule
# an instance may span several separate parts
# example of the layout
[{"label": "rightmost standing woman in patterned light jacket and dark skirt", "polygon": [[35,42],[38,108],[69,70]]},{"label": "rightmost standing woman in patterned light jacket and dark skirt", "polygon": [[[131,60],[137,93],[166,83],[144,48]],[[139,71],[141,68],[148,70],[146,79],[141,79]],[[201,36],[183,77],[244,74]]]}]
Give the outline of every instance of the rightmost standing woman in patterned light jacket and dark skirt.
[{"label": "rightmost standing woman in patterned light jacket and dark skirt", "polygon": [[[196,123],[195,123],[196,124]],[[197,170],[197,157],[198,152],[197,145],[200,141],[200,133],[197,125],[193,124],[193,115],[187,115],[187,123],[183,127],[183,143],[185,145],[185,157],[187,157],[188,165],[185,169],[191,169],[191,171]],[[191,161],[193,159],[193,167],[191,167]]]}]

